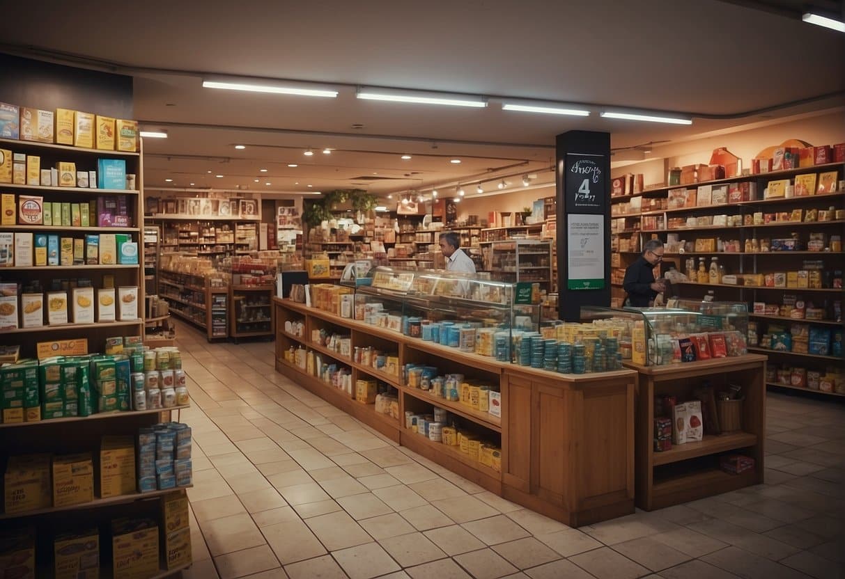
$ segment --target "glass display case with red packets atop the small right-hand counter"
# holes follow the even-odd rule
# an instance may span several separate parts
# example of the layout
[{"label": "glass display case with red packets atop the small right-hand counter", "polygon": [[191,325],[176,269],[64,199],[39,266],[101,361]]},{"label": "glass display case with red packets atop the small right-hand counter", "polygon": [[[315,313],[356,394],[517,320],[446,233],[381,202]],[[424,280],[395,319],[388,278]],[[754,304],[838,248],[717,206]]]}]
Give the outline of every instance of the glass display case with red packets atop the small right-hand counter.
[{"label": "glass display case with red packets atop the small right-hand counter", "polygon": [[748,353],[748,305],[732,301],[670,300],[666,307],[586,306],[581,322],[619,335],[625,362],[670,365]]}]

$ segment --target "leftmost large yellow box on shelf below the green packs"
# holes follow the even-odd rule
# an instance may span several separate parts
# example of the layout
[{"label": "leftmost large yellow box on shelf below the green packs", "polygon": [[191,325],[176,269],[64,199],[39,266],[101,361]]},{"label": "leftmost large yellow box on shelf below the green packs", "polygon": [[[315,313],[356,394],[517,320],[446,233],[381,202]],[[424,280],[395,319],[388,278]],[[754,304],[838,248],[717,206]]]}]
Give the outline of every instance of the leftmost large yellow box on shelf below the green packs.
[{"label": "leftmost large yellow box on shelf below the green packs", "polygon": [[50,455],[9,457],[3,486],[7,515],[49,508],[52,506]]}]

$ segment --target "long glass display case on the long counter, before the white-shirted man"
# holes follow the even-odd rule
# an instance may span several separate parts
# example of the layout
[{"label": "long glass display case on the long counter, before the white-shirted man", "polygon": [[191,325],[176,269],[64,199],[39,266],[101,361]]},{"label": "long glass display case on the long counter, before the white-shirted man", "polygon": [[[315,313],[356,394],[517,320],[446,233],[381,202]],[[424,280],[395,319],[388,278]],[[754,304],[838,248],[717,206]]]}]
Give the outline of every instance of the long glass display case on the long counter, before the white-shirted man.
[{"label": "long glass display case on the long counter, before the white-shirted man", "polygon": [[[355,289],[355,319],[412,338],[510,361],[511,333],[537,332],[539,304],[516,284],[478,275],[379,267]],[[504,348],[497,352],[496,344]]]}]

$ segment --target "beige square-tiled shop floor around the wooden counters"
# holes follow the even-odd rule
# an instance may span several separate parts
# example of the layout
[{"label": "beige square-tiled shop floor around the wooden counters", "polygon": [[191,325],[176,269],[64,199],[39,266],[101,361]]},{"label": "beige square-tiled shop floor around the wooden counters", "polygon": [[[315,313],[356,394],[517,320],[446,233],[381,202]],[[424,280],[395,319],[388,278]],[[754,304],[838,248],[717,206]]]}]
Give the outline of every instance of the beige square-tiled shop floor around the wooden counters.
[{"label": "beige square-tiled shop floor around the wooden counters", "polygon": [[573,529],[368,430],[274,370],[273,344],[178,345],[199,579],[845,576],[845,407],[771,394],[766,484]]}]

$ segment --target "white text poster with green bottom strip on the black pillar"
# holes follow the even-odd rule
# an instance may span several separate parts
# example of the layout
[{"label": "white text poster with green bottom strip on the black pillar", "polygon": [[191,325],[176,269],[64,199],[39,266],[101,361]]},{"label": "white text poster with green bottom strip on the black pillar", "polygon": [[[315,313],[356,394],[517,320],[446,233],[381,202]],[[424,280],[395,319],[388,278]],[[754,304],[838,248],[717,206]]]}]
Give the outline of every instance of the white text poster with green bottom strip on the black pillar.
[{"label": "white text poster with green bottom strip on the black pillar", "polygon": [[566,216],[566,289],[604,287],[604,215]]}]

